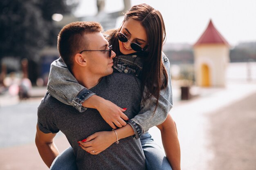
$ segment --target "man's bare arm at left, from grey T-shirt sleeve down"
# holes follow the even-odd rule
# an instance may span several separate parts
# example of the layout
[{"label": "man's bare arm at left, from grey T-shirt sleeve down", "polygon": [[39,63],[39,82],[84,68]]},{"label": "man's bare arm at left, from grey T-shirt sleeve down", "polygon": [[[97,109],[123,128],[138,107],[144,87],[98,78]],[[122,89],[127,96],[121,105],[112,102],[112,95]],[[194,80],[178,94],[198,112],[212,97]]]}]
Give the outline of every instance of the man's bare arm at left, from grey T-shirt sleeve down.
[{"label": "man's bare arm at left, from grey T-shirt sleeve down", "polygon": [[59,154],[59,151],[53,141],[55,136],[56,133],[44,133],[38,128],[38,125],[36,125],[36,147],[48,168],[50,168],[52,162]]}]

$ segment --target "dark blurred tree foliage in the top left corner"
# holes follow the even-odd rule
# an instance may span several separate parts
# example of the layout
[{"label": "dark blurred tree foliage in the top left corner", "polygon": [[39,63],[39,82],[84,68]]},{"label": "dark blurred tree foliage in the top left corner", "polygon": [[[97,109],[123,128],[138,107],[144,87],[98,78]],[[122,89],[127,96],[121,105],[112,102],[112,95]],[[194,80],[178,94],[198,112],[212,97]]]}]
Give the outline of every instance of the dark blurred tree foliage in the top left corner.
[{"label": "dark blurred tree foliage in the top left corner", "polygon": [[1,0],[0,60],[33,59],[44,46],[56,45],[59,28],[52,15],[70,13],[76,5],[72,0]]}]

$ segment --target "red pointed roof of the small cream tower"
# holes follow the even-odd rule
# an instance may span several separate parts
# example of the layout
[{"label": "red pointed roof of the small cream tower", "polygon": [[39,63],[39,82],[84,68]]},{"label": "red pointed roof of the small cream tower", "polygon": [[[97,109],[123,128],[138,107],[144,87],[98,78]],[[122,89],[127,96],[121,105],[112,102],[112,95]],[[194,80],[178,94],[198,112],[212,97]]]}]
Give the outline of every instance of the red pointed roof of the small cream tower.
[{"label": "red pointed roof of the small cream tower", "polygon": [[214,27],[212,21],[210,20],[207,29],[204,31],[199,40],[195,43],[194,46],[201,44],[226,44],[229,46],[229,43],[222,37],[219,31]]}]

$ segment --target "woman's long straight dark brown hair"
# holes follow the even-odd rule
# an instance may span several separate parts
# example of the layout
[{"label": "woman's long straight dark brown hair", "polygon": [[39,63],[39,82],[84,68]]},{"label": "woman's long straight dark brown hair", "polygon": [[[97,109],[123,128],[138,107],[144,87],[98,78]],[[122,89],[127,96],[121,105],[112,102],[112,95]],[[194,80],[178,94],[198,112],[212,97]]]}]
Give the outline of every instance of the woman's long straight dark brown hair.
[{"label": "woman's long straight dark brown hair", "polygon": [[[146,55],[144,59],[144,66],[142,71],[141,85],[142,91],[146,86],[147,91],[143,100],[145,101],[151,95],[157,99],[158,105],[160,90],[166,88],[168,84],[168,74],[162,62],[162,46],[166,38],[166,31],[164,26],[164,20],[161,13],[150,7],[148,4],[139,4],[133,6],[124,16],[123,23],[132,18],[140,21],[141,25],[146,29],[148,38],[148,45],[146,48]],[[110,35],[110,44],[113,44],[113,50],[120,54],[119,42],[117,39],[117,32],[119,30],[110,30],[106,34]]]}]

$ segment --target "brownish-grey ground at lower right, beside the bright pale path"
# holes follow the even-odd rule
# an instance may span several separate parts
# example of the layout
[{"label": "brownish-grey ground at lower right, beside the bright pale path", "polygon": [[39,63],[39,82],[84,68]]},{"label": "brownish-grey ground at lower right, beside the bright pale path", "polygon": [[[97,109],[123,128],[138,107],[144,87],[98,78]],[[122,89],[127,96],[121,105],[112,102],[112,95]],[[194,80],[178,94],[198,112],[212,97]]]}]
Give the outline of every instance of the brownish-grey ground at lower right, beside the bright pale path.
[{"label": "brownish-grey ground at lower right, beside the bright pale path", "polygon": [[256,93],[209,115],[213,170],[256,170]]}]

